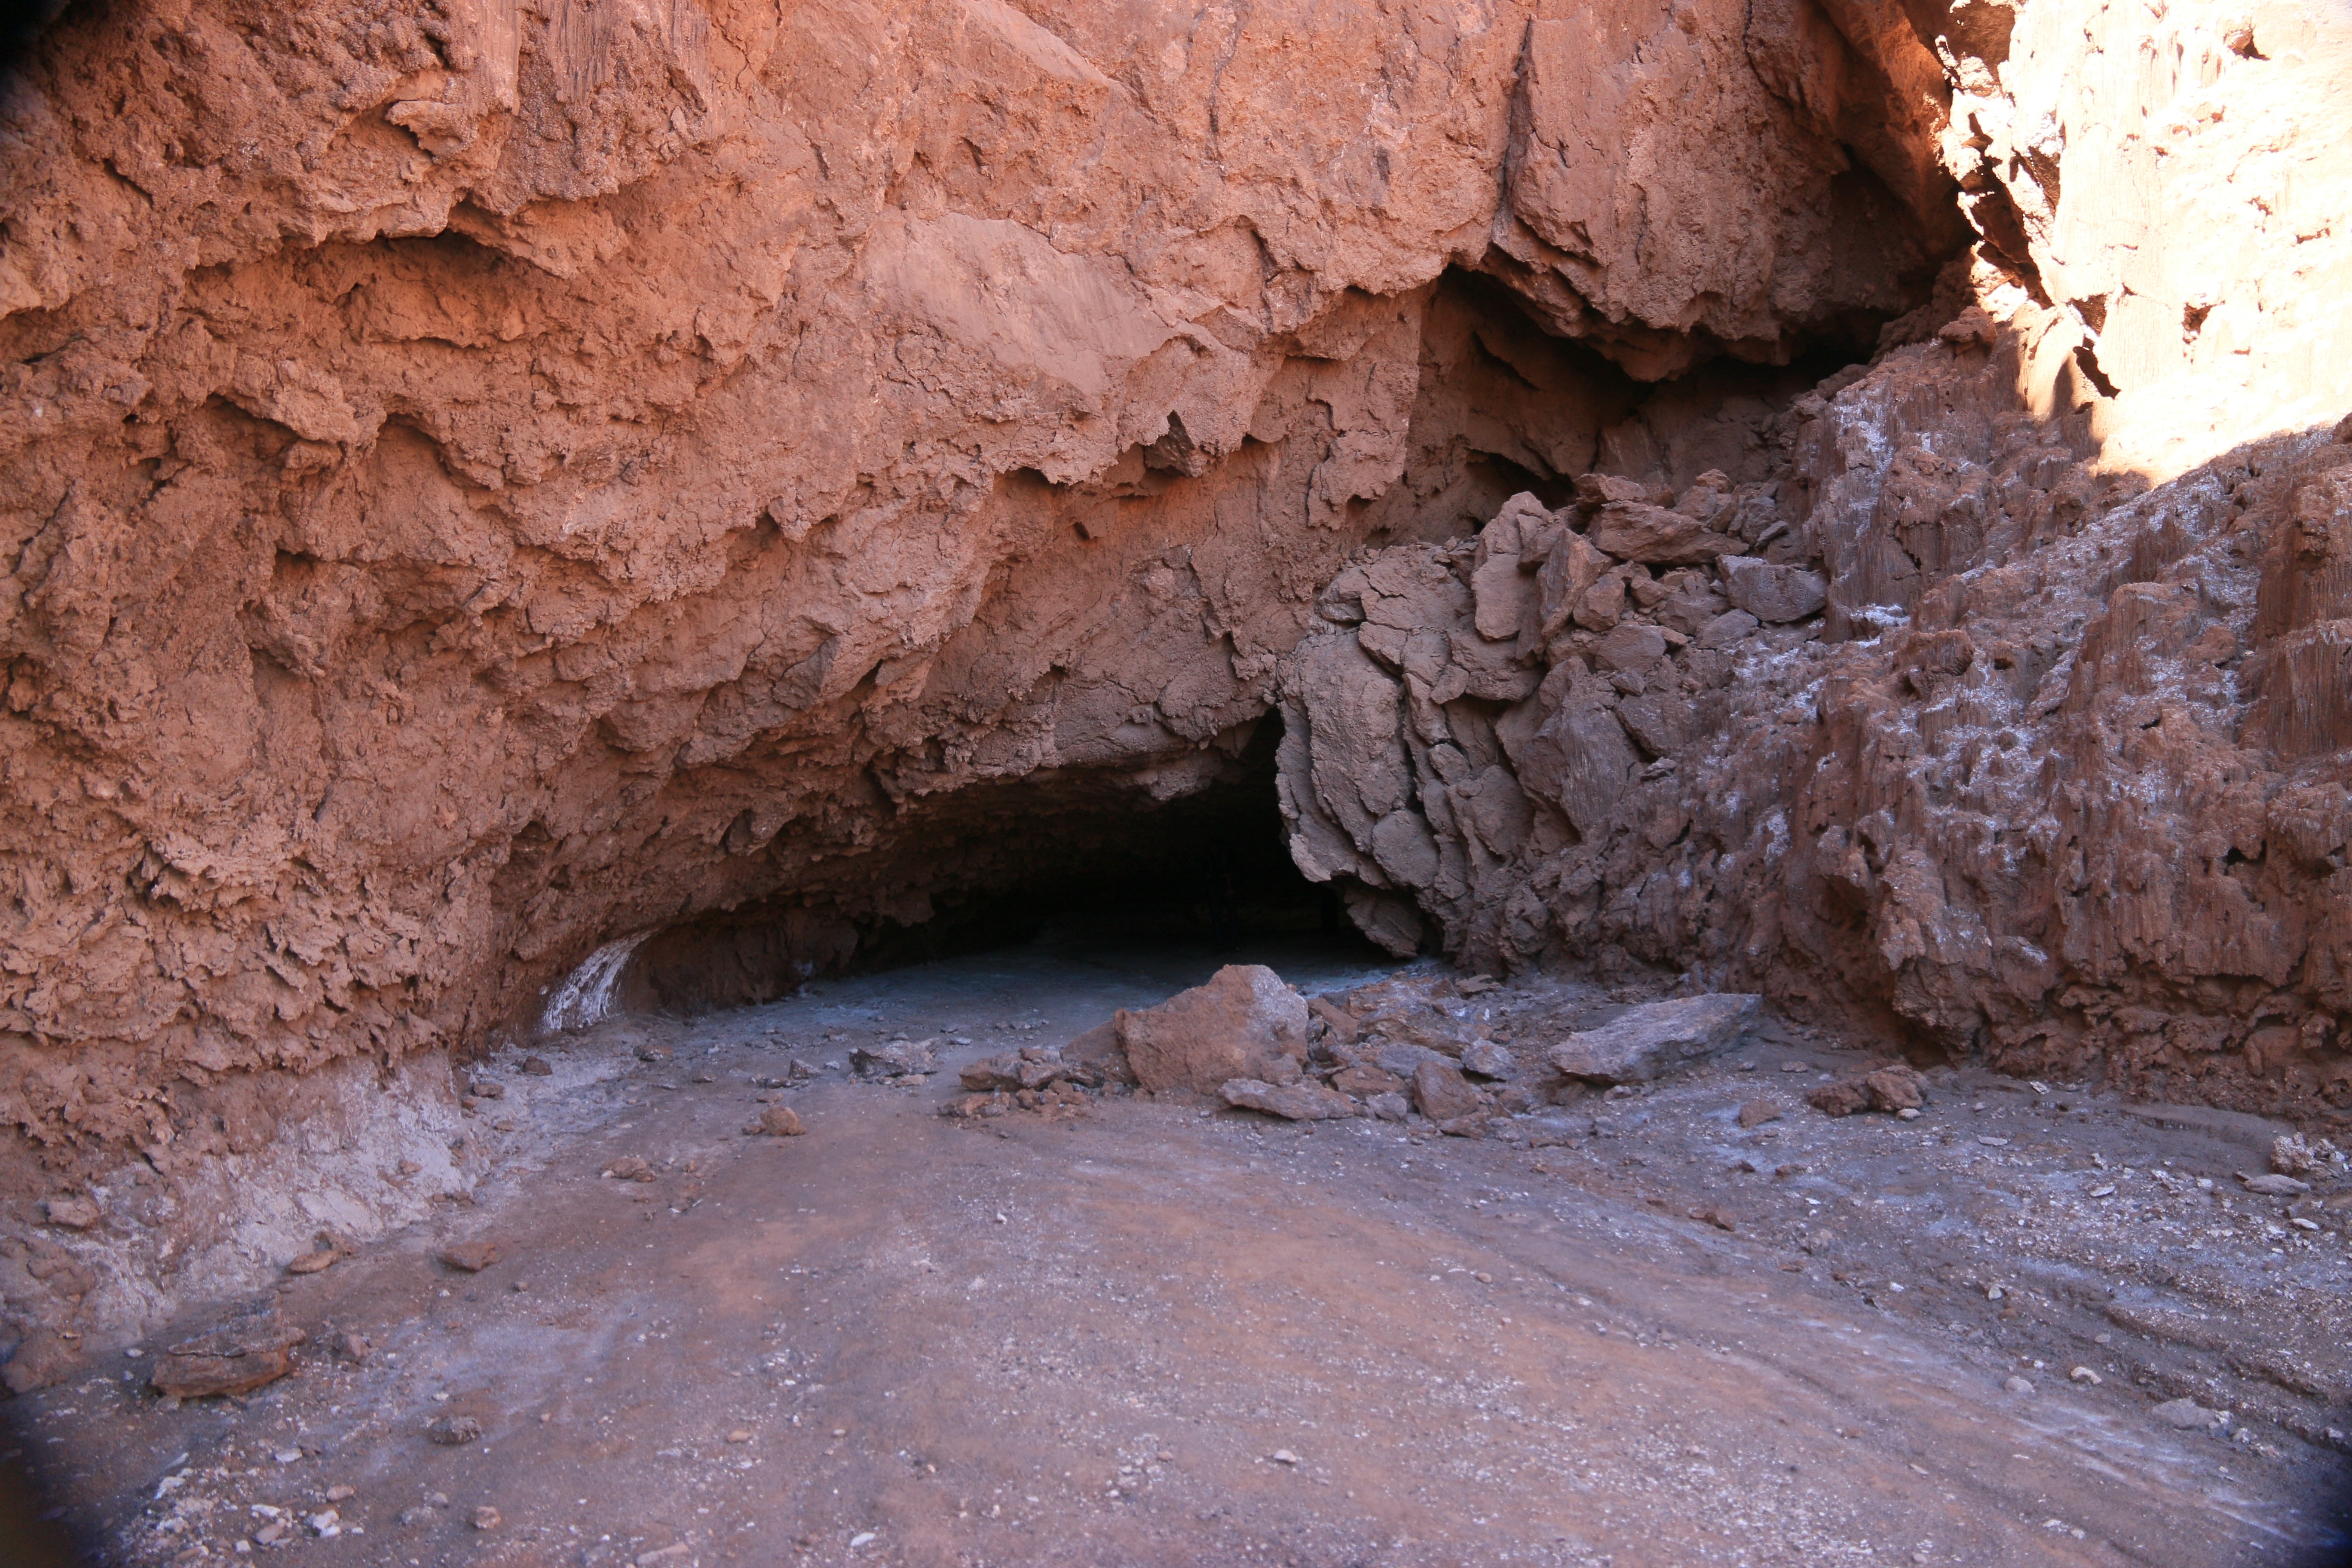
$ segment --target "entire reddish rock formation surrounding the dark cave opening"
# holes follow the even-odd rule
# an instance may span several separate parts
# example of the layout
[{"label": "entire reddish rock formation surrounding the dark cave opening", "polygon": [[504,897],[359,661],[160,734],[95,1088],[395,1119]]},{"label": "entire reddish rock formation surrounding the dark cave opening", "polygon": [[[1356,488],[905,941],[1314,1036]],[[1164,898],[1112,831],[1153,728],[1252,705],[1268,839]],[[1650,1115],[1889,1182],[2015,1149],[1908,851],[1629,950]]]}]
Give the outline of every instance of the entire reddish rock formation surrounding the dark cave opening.
[{"label": "entire reddish rock formation surrounding the dark cave opening", "polygon": [[[477,1159],[442,1053],[1101,863],[1277,698],[1397,947],[2314,1072],[2343,61],[2291,2],[68,5],[0,110],[0,1187],[160,1187],[146,1284],[42,1239],[9,1321],[405,1213]],[[350,1211],[228,1218],[296,1166]]]}]

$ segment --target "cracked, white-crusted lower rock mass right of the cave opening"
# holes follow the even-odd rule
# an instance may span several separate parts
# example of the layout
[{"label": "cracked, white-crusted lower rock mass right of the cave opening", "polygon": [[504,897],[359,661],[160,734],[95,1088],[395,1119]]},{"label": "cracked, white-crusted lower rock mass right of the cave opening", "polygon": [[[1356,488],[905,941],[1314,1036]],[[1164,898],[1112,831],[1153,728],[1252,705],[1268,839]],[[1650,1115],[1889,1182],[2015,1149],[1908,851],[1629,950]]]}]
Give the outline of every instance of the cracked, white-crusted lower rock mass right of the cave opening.
[{"label": "cracked, white-crusted lower rock mass right of the cave opening", "polygon": [[[1802,402],[1780,480],[1595,477],[1341,574],[1284,665],[1298,863],[1477,966],[1646,961],[2013,1072],[2352,1100],[2352,421],[2103,477],[2018,407],[2049,313],[2009,306],[1990,348]],[[1661,520],[1611,531],[1625,508]],[[1748,555],[1644,559],[1722,517]],[[1818,618],[1726,607],[1764,574]],[[1392,581],[1402,644],[1359,609]]]}]

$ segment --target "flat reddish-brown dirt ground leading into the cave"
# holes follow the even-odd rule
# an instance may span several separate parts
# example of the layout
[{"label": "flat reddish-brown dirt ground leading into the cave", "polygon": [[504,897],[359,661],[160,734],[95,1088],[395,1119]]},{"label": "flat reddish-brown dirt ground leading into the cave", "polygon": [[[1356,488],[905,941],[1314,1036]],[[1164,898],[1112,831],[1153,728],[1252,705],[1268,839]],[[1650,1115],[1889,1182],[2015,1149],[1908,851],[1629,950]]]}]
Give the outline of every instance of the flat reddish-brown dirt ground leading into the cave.
[{"label": "flat reddish-brown dirt ground leading into the cave", "polygon": [[[12,1462],[139,1566],[2340,1559],[2352,1211],[2244,1190],[2284,1128],[1969,1070],[1832,1121],[1804,1091],[1865,1053],[1778,1023],[1484,1140],[936,1114],[1218,961],[1042,940],[487,1063],[496,1173],[280,1286],[294,1378],[167,1406],[158,1335],[14,1401]],[[1498,1037],[1637,999],[1425,973]],[[894,1034],[946,1070],[851,1079]]]}]

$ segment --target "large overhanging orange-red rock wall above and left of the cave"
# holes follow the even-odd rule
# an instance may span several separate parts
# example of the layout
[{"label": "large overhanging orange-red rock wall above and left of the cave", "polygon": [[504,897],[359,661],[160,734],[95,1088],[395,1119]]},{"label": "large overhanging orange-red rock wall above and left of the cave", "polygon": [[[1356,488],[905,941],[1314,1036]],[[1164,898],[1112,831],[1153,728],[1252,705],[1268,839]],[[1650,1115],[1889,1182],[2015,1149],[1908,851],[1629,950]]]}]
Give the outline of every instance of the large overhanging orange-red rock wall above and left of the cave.
[{"label": "large overhanging orange-red rock wall above and left of the cave", "polygon": [[[971,785],[1214,783],[1350,548],[1915,303],[1936,183],[1748,59],[1818,14],[1534,9],[68,14],[0,150],[0,1119],[202,1152],[174,1079],[762,898],[746,964],[837,964],[1004,875]],[[1668,176],[1736,256],[1644,249]]]}]

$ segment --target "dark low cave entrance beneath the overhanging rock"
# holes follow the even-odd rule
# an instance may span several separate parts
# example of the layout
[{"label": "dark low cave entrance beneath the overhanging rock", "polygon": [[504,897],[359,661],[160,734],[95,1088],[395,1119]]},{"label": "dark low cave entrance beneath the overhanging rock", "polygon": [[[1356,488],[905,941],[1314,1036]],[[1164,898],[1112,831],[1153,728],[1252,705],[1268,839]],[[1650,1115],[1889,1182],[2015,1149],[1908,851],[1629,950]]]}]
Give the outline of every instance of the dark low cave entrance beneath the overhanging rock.
[{"label": "dark low cave entrance beneath the overhanging rock", "polygon": [[[1395,964],[1336,884],[1289,853],[1275,792],[1277,715],[1214,776],[1155,797],[1136,773],[1051,771],[974,785],[908,813],[894,842],[793,889],[647,938],[621,1011],[760,1006],[821,976],[990,950]],[[1167,771],[1162,769],[1162,776]]]}]

